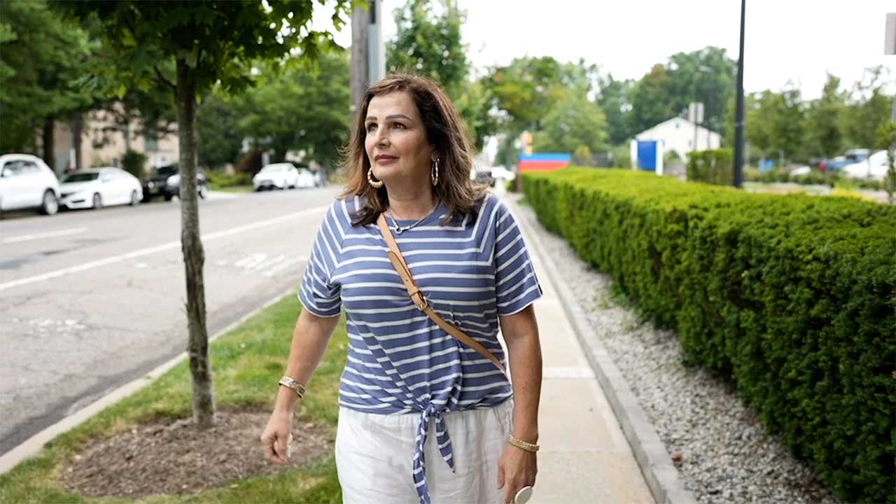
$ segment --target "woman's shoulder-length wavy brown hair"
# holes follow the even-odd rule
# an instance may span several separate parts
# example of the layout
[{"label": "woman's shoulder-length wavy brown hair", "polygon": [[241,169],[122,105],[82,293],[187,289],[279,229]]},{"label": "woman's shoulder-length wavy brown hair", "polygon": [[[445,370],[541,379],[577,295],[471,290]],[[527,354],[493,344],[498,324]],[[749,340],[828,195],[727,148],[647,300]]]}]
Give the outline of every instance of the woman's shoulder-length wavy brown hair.
[{"label": "woman's shoulder-length wavy brown hair", "polygon": [[389,74],[364,93],[342,166],[348,182],[340,197],[359,196],[362,201],[358,212],[352,215],[352,225],[376,222],[379,214],[389,207],[386,187],[375,189],[367,183],[370,160],[364,147],[364,120],[370,100],[396,91],[407,92],[414,100],[426,130],[426,140],[435,148],[439,158],[439,183],[433,191],[435,199],[448,207],[442,223],[475,215],[478,201],[485,196],[487,186],[474,184],[470,180],[475,151],[460,112],[445,91],[430,79],[412,74]]}]

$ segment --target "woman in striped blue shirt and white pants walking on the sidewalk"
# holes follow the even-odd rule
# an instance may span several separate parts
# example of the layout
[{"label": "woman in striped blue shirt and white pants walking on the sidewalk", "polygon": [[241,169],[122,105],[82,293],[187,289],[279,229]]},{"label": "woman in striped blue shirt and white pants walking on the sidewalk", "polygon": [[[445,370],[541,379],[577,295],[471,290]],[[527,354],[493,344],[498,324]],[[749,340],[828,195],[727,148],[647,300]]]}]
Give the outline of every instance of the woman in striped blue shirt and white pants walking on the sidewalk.
[{"label": "woman in striped blue shirt and white pants walking on the sidewalk", "polygon": [[[336,465],[346,503],[513,502],[534,485],[541,296],[520,230],[470,181],[460,114],[426,78],[396,74],[366,91],[349,144],[349,184],[324,218],[299,290],[286,377],[262,435],[286,461],[293,407],[345,308]],[[423,304],[500,364],[434,324],[409,298],[383,228]],[[508,359],[498,343],[501,329]]]}]

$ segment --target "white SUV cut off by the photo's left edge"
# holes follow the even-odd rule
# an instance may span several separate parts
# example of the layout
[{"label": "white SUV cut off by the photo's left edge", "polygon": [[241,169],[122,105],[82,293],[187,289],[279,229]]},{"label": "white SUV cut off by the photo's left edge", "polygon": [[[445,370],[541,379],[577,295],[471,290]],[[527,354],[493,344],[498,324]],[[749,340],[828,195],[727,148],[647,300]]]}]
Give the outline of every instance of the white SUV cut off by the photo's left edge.
[{"label": "white SUV cut off by the photo's left edge", "polygon": [[37,208],[53,215],[59,210],[59,180],[37,156],[0,156],[0,212]]}]

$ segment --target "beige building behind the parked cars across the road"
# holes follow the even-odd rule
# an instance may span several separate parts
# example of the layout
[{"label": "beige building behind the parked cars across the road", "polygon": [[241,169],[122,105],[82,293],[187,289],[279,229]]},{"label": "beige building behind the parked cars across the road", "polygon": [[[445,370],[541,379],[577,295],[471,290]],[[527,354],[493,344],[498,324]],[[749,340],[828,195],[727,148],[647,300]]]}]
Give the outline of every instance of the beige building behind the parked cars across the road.
[{"label": "beige building behind the parked cars across the road", "polygon": [[[174,126],[175,128],[177,126]],[[142,152],[146,157],[144,170],[175,163],[180,149],[177,135],[165,135],[158,139],[136,135],[140,125],[134,121],[130,125],[130,135],[125,142],[125,132],[116,126],[103,110],[92,111],[84,116],[81,135],[81,161],[83,168],[99,166],[121,166],[121,160],[128,148]],[[76,163],[73,125],[56,122],[54,132],[54,155],[56,174],[74,169]]]}]

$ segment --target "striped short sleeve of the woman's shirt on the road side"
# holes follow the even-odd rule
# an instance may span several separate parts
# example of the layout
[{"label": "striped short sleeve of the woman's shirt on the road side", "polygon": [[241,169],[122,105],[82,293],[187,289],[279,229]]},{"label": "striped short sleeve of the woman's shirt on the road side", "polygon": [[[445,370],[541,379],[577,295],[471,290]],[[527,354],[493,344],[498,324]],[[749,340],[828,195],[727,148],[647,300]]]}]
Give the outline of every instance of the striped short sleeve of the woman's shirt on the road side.
[{"label": "striped short sleeve of the woman's shirt on the road side", "polygon": [[318,317],[338,317],[341,313],[340,285],[332,282],[332,271],[339,264],[340,237],[336,205],[333,205],[324,217],[321,229],[317,230],[305,276],[298,289],[302,306]]}]

